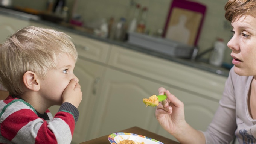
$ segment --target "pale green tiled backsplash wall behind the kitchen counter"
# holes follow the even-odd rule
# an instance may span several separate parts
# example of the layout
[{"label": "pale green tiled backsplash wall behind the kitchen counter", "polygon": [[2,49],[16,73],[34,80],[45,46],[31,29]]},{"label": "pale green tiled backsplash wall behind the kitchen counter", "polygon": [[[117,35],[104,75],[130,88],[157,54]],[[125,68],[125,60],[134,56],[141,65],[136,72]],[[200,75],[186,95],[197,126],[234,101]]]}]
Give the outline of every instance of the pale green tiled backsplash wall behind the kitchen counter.
[{"label": "pale green tiled backsplash wall behind the kitchen counter", "polygon": [[[46,4],[40,4],[41,1],[33,0],[13,0],[14,5],[27,5],[43,10]],[[199,53],[213,46],[216,38],[224,39],[227,44],[232,36],[229,22],[224,17],[224,5],[227,0],[193,0],[194,2],[206,5],[207,11],[204,18],[204,24],[201,29],[200,38],[198,40]],[[27,4],[30,2],[29,4]],[[131,0],[78,0],[76,13],[80,14],[85,24],[97,21],[102,18],[107,20],[114,17],[118,20],[120,17],[127,18],[130,11]],[[142,6],[148,7],[146,29],[155,32],[159,28],[164,28],[169,7],[172,0],[134,0]],[[34,3],[34,4],[33,4]],[[45,1],[46,3],[46,1]],[[72,8],[73,0],[67,0],[67,6]],[[226,49],[224,62],[231,63],[230,49]],[[203,56],[208,58],[209,55]]]}]

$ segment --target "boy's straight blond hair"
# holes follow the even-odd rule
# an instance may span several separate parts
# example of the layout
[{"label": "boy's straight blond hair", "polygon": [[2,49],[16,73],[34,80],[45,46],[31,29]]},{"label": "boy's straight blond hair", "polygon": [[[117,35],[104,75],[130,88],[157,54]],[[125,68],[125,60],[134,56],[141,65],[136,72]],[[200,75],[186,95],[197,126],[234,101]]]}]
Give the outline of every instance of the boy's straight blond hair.
[{"label": "boy's straight blond hair", "polygon": [[10,94],[22,95],[24,73],[32,71],[43,79],[48,70],[56,68],[56,59],[64,53],[77,61],[70,36],[53,29],[24,27],[0,47],[0,83]]}]

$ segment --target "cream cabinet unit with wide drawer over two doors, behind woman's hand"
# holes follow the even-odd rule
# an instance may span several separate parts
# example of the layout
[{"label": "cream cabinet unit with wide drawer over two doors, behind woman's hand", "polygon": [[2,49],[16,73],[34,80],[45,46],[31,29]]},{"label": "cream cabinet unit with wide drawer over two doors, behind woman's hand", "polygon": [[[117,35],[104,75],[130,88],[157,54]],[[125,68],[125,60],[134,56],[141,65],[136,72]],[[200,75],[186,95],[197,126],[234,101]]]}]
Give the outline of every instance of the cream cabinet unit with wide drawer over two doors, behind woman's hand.
[{"label": "cream cabinet unit with wide drawer over two doors, behind woman's hand", "polygon": [[[142,97],[149,97],[153,94],[158,94],[157,89],[161,86],[169,89],[172,94],[184,103],[187,123],[195,129],[206,130],[218,108],[218,101],[222,96],[224,83],[227,79],[227,77],[210,74],[116,45],[112,45],[108,64],[108,69],[113,70],[111,72],[107,70],[107,73],[111,74],[106,74],[108,77],[105,77],[102,86],[104,94],[101,93],[101,98],[104,98],[104,100],[101,106],[103,108],[98,106],[98,111],[101,109],[101,112],[99,112],[96,120],[99,121],[94,121],[98,124],[98,127],[96,126],[97,124],[94,124],[94,128],[98,129],[97,136],[106,135],[107,132],[110,133],[110,129],[115,129],[115,126],[120,127],[122,123],[123,126],[129,126],[129,123],[131,123],[129,121],[131,120],[123,120],[127,113],[127,116],[130,115],[130,117],[135,116],[137,118],[131,124],[138,123],[144,129],[176,140],[163,130],[155,120],[153,116],[155,109],[153,111],[152,108],[145,110],[141,107],[143,105],[142,100],[138,98],[141,95]],[[128,79],[126,79],[127,77]],[[127,84],[125,85],[125,83]],[[131,86],[134,86],[134,88],[131,88]],[[127,94],[127,92],[129,93]],[[131,94],[130,101],[127,99],[129,94]],[[120,103],[121,100],[125,100],[128,103]],[[132,114],[129,113],[128,109],[131,101],[134,101],[134,105],[130,108],[133,111]],[[120,110],[123,107],[126,107],[127,112]],[[116,110],[117,108],[120,109]],[[102,111],[103,109],[104,111]],[[122,112],[125,112],[125,114]],[[152,117],[149,116],[150,114],[153,114]],[[116,117],[120,117],[119,121],[116,121]],[[148,121],[148,118],[154,120]],[[144,121],[144,123],[139,123],[140,120]],[[114,126],[108,126],[111,121],[112,123],[115,121]]]}]

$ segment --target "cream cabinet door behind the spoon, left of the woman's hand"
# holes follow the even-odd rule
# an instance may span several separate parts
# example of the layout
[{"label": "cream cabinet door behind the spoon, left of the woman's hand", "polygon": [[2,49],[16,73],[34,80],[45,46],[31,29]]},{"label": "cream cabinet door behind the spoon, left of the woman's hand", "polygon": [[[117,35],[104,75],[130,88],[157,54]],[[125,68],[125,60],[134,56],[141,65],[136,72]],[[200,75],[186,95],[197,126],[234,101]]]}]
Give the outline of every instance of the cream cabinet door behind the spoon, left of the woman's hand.
[{"label": "cream cabinet door behind the spoon, left of the woman's hand", "polygon": [[158,94],[162,84],[108,68],[102,83],[90,138],[138,126],[152,132],[158,129],[156,107],[146,107],[143,98]]}]

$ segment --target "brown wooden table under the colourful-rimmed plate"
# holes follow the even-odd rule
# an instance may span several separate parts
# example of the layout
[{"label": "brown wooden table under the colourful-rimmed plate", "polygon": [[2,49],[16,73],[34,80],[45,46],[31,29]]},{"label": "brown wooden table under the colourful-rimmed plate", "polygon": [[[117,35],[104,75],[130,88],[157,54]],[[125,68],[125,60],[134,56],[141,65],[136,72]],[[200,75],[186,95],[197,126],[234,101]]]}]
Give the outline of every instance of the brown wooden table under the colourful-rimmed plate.
[{"label": "brown wooden table under the colourful-rimmed plate", "polygon": [[[163,142],[164,144],[180,144],[176,141],[173,141],[171,139],[165,138],[163,136],[157,135],[155,133],[149,132],[148,130],[145,129],[141,129],[139,127],[131,127],[129,129],[125,129],[125,130],[121,130],[119,132],[126,132],[126,133],[134,133],[137,135],[143,135],[149,138],[153,138],[156,139],[157,141]],[[110,133],[111,134],[111,133]],[[90,141],[85,141],[82,142],[80,144],[110,144],[110,142],[108,141],[108,136],[109,135],[105,135],[96,139],[92,139]]]}]

